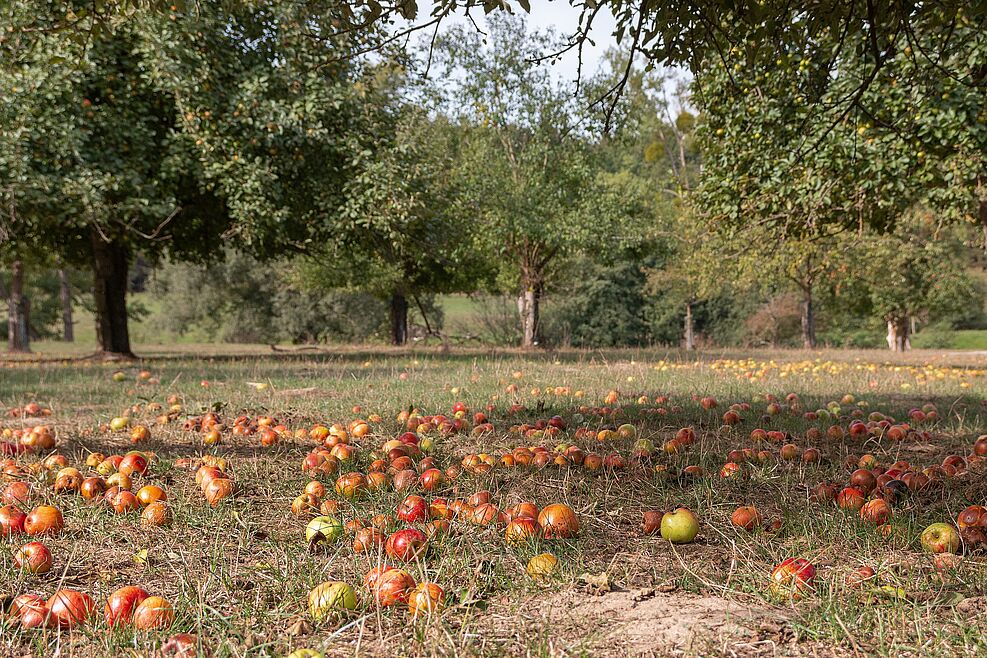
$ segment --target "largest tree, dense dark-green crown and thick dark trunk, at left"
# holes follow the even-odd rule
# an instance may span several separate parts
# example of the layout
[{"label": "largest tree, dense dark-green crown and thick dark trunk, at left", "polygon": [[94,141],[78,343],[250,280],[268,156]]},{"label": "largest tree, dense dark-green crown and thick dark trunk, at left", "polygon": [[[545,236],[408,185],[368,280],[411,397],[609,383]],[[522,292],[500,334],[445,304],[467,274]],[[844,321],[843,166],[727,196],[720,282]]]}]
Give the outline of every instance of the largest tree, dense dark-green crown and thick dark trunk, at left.
[{"label": "largest tree, dense dark-green crown and thick dark trunk, at left", "polygon": [[[13,3],[30,14],[35,3]],[[14,250],[93,270],[100,349],[131,353],[136,253],[204,260],[221,238],[260,256],[331,236],[361,141],[357,67],[296,3],[135,9],[82,43],[32,14],[0,48],[0,194]],[[97,26],[99,24],[96,24]],[[12,35],[12,36],[11,36]]]}]

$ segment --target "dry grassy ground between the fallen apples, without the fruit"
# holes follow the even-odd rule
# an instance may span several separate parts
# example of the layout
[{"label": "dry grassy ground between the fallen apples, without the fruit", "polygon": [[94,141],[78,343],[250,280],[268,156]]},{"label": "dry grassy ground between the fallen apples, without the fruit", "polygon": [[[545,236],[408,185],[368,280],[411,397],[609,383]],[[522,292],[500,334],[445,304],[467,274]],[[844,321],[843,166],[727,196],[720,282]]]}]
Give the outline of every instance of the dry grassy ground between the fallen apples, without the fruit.
[{"label": "dry grassy ground between the fallen apples, without the fruit", "polygon": [[[6,595],[35,591],[48,596],[64,586],[88,592],[101,607],[117,587],[140,585],[174,604],[177,619],[171,632],[199,634],[217,657],[281,656],[298,647],[326,655],[407,656],[671,651],[671,646],[648,646],[633,629],[619,630],[633,611],[601,606],[614,600],[608,597],[621,596],[620,590],[656,590],[656,600],[674,606],[686,618],[711,614],[697,607],[700,601],[703,606],[717,601],[743,605],[756,621],[730,642],[776,646],[788,654],[987,652],[980,632],[987,610],[982,554],[966,556],[955,569],[939,570],[917,545],[929,523],[951,521],[965,506],[987,502],[981,465],[897,504],[891,539],[881,537],[856,514],[810,503],[807,496],[808,487],[821,481],[846,482],[844,462],[850,454],[870,453],[884,464],[904,459],[918,467],[938,464],[949,454],[968,454],[972,441],[987,431],[987,370],[975,355],[726,350],[699,356],[647,350],[524,354],[484,349],[444,353],[358,347],[273,354],[259,346],[139,345],[139,353],[147,358],[121,366],[77,360],[54,344],[41,347],[44,358],[0,365],[0,407],[30,401],[50,406],[58,452],[85,475],[91,474],[83,465],[90,452],[122,454],[132,448],[126,433],[101,429],[112,417],[132,410],[132,422],[151,428],[151,439],[138,447],[158,457],[139,483],[147,480],[167,490],[175,520],[169,528],[145,529],[135,514],[114,515],[76,496],[56,497],[51,476],[43,471],[26,476],[38,492],[32,504],[57,504],[67,527],[59,537],[44,540],[55,566],[42,576],[26,576],[15,568],[11,555],[26,540],[8,540],[9,550],[0,551]],[[125,382],[111,378],[120,368],[127,375]],[[149,370],[154,381],[139,382],[141,369]],[[267,386],[259,390],[251,383]],[[517,392],[508,391],[511,385]],[[559,395],[556,387],[563,387]],[[619,414],[594,414],[593,408],[602,406],[611,390],[621,393]],[[766,393],[782,400],[795,393],[801,408],[762,418]],[[847,394],[855,402],[841,404],[837,418],[803,418],[802,411],[824,408]],[[647,396],[647,404],[638,404],[640,395]],[[658,395],[670,398],[655,403]],[[694,395],[714,396],[719,406],[704,410]],[[146,405],[164,404],[169,396],[177,396],[181,413],[174,422],[157,425]],[[473,410],[493,405],[490,415],[496,431],[482,437],[437,437],[433,456],[443,468],[470,453],[499,458],[520,445],[554,449],[559,443],[576,443],[587,451],[626,456],[629,441],[572,437],[577,427],[622,422],[634,424],[640,436],[659,446],[687,426],[696,428],[698,440],[680,455],[662,453],[652,463],[632,462],[623,471],[594,475],[577,467],[498,467],[448,483],[441,494],[450,499],[488,489],[502,508],[522,500],[539,506],[565,502],[579,514],[581,531],[573,540],[511,547],[503,540],[502,528],[455,522],[453,534],[436,542],[425,559],[408,566],[416,580],[445,588],[449,606],[434,618],[413,620],[405,609],[381,610],[370,604],[362,579],[379,556],[354,554],[349,540],[309,551],[305,522],[292,517],[290,505],[309,480],[299,464],[313,445],[310,440],[286,439],[262,447],[256,436],[235,437],[226,431],[222,444],[207,447],[199,434],[181,428],[185,418],[208,410],[218,411],[227,421],[240,414],[271,414],[293,430],[316,423],[345,424],[377,413],[383,420],[372,423],[371,435],[358,442],[357,462],[344,469],[366,470],[371,453],[403,431],[394,420],[399,411],[417,407],[450,414],[457,401]],[[721,427],[723,412],[735,402],[752,408],[743,413],[740,425]],[[524,408],[511,412],[512,404]],[[918,426],[930,433],[928,437],[899,443],[876,437],[824,439],[815,443],[824,457],[820,464],[744,464],[738,478],[717,475],[731,449],[751,445],[748,436],[755,427],[788,431],[805,448],[813,443],[806,439],[810,427],[846,427],[855,410],[879,411],[902,421],[910,409],[923,404],[934,404],[940,415]],[[356,405],[359,412],[354,411]],[[664,411],[655,411],[658,408]],[[564,436],[525,437],[511,431],[520,423],[556,414],[568,423]],[[5,418],[2,427],[18,429],[21,421]],[[778,452],[777,445],[767,448]],[[204,454],[226,458],[237,482],[235,496],[216,508],[206,504],[193,472],[175,466],[178,458]],[[667,464],[673,471],[700,465],[707,475],[692,480],[660,477],[654,463]],[[324,481],[331,489],[334,480],[332,476]],[[342,516],[368,519],[393,513],[403,496],[387,491],[343,501]],[[735,530],[729,518],[742,504],[756,505],[766,519],[781,521],[780,529]],[[690,507],[701,520],[696,542],[672,546],[641,535],[644,510],[678,505]],[[525,575],[524,567],[543,551],[558,556],[560,572],[538,584]],[[768,574],[790,556],[816,564],[817,586],[799,601],[773,599]],[[864,588],[847,585],[847,575],[863,564],[877,570],[875,583]],[[597,597],[580,584],[580,575],[600,573],[607,574],[617,593]],[[345,618],[312,620],[306,612],[307,593],[325,580],[353,585],[361,598],[358,609]],[[594,610],[604,609],[604,616],[594,616]],[[672,616],[648,623],[660,634],[677,621]],[[147,653],[168,634],[111,633],[101,622],[71,635],[4,625],[0,654],[51,655],[56,647],[63,654],[80,656]],[[697,643],[680,647],[685,653],[707,654],[716,652],[709,647],[723,646],[715,629],[697,627],[691,634]]]}]

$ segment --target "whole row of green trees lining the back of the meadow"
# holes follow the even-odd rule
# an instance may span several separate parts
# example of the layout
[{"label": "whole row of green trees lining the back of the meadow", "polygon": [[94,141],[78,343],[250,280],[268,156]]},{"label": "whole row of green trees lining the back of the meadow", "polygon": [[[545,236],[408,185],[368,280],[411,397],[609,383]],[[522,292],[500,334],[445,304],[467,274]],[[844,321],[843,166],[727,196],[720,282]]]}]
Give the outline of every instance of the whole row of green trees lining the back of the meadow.
[{"label": "whole row of green trees lining the back of the meadow", "polygon": [[[530,60],[562,46],[506,17],[432,44],[430,84],[406,54],[358,57],[381,34],[340,36],[343,9],[135,7],[80,40],[33,5],[13,4],[33,27],[0,41],[0,251],[90,266],[107,353],[130,352],[137,253],[234,249],[298,290],[359,289],[387,304],[398,344],[434,293],[510,291],[530,346],[553,289],[633,280],[676,309],[687,347],[726,291],[796,290],[806,346],[820,303],[885,319],[904,347],[908,318],[979,294],[962,250],[936,241],[969,239],[956,220],[983,188],[987,60],[962,11],[960,45],[926,43],[945,19],[916,18],[915,48],[886,39],[880,66],[866,30],[796,23],[768,40],[742,23],[673,102],[616,56],[582,86],[556,80]],[[917,48],[965,82],[930,78]],[[577,266],[584,281],[565,276]],[[609,321],[591,310],[586,326]]]}]

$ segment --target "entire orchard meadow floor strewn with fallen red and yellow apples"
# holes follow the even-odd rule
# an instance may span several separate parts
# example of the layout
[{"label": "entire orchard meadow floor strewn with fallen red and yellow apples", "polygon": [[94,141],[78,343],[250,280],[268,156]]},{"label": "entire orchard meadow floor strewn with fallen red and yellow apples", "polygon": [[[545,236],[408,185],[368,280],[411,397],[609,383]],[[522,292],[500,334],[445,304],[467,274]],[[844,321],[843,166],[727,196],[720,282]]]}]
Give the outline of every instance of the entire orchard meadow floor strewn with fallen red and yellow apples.
[{"label": "entire orchard meadow floor strewn with fallen red and yellow apples", "polygon": [[5,655],[987,650],[974,354],[0,372]]}]

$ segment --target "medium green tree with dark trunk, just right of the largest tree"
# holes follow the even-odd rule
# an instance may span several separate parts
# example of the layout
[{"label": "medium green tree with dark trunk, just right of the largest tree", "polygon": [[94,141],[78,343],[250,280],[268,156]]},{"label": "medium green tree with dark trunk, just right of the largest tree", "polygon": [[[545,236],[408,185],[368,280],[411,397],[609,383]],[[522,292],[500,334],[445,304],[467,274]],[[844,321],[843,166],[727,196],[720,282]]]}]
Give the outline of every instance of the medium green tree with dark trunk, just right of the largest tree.
[{"label": "medium green tree with dark trunk, just right of the largest tree", "polygon": [[367,106],[378,140],[360,173],[344,186],[346,202],[332,242],[296,269],[316,288],[350,288],[384,300],[394,345],[409,339],[414,304],[429,332],[423,298],[468,292],[489,270],[473,249],[472,226],[453,213],[455,131],[402,98]]}]

